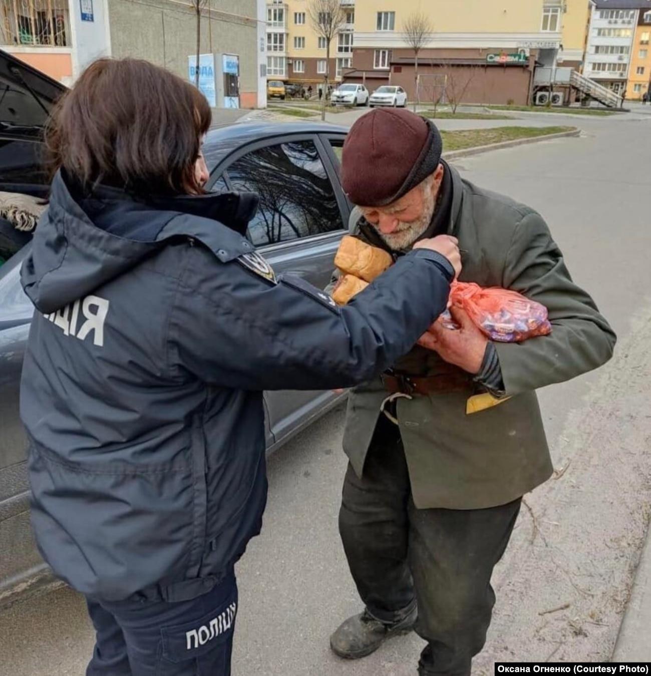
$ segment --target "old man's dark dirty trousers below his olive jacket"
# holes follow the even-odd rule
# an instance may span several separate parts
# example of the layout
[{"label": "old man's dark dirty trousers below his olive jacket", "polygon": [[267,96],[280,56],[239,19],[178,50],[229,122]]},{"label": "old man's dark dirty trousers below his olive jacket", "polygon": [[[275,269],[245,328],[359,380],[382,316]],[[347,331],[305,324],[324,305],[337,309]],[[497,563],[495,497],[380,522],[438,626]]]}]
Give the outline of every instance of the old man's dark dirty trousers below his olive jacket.
[{"label": "old man's dark dirty trousers below his olive jacket", "polygon": [[481,510],[418,510],[402,439],[381,416],[359,479],[348,466],[339,531],[350,571],[372,616],[400,620],[418,603],[428,642],[421,676],[467,676],[483,648],[502,558],[521,499]]}]

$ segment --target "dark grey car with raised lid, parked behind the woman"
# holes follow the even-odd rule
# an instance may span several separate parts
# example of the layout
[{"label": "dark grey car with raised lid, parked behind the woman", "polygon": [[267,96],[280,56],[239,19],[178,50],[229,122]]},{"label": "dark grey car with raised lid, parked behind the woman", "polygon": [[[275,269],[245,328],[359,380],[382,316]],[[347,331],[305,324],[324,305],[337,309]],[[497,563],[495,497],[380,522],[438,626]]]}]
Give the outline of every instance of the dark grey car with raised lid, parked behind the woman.
[{"label": "dark grey car with raised lid, parked behind the woman", "polygon": [[[45,197],[41,134],[64,88],[3,52],[0,80],[0,191]],[[344,139],[344,128],[325,124],[236,124],[211,130],[203,147],[210,191],[260,195],[248,232],[260,253],[276,272],[299,274],[321,288],[330,281],[350,212],[339,184]],[[0,218],[0,256],[8,259],[0,264],[0,606],[57,584],[30,532],[26,441],[18,416],[22,358],[33,312],[20,286],[28,240]],[[330,391],[266,393],[268,451],[340,398]]]}]

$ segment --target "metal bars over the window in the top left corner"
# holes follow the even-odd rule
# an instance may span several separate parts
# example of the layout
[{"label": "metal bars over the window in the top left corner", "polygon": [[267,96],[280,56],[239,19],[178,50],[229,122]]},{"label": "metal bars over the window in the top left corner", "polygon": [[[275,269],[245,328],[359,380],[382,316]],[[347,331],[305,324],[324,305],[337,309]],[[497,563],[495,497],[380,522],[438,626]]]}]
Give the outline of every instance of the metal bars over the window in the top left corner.
[{"label": "metal bars over the window in the top left corner", "polygon": [[68,0],[0,0],[0,44],[69,47]]}]

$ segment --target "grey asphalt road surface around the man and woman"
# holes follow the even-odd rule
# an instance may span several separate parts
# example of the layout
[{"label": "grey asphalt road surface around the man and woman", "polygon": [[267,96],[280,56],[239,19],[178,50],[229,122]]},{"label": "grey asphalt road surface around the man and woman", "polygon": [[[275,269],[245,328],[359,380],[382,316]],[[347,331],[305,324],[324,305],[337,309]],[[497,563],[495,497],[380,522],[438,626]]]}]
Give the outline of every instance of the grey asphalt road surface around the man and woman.
[{"label": "grey asphalt road surface around the man and woman", "polygon": [[[617,637],[651,512],[647,111],[571,122],[527,117],[575,124],[583,134],[458,163],[466,178],[544,214],[574,278],[619,334],[606,368],[540,393],[564,472],[527,496],[530,510],[496,571],[498,604],[475,674],[493,673],[494,660],[607,660]],[[328,648],[329,633],[360,610],[337,535],[342,425],[335,410],[270,458],[264,531],[238,566],[234,676],[416,671],[423,642],[415,635],[358,662]],[[80,676],[92,646],[84,604],[68,589],[0,616],[1,676]]]}]

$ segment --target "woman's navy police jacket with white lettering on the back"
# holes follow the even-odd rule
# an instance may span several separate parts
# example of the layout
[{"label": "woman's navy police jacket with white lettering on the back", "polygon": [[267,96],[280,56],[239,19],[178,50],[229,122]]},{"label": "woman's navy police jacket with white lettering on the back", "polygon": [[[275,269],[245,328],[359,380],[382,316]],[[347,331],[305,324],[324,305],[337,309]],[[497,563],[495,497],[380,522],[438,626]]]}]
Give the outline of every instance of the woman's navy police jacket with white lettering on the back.
[{"label": "woman's navy police jacket with white lettering on the back", "polygon": [[39,549],[87,596],[207,592],[260,531],[262,391],[368,381],[445,308],[454,271],[423,249],[345,308],[276,279],[243,236],[256,207],[55,177],[22,267],[20,408]]}]

